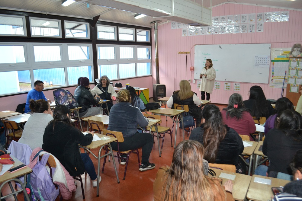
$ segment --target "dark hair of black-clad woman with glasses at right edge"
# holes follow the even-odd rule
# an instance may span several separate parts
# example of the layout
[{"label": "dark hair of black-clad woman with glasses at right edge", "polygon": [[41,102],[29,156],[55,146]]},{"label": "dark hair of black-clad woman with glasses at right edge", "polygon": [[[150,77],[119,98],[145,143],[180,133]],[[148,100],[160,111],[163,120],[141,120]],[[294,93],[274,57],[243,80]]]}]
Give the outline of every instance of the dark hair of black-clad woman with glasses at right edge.
[{"label": "dark hair of black-clad woman with glasses at right edge", "polygon": [[294,140],[302,141],[302,117],[294,110],[284,110],[277,118],[276,128]]}]

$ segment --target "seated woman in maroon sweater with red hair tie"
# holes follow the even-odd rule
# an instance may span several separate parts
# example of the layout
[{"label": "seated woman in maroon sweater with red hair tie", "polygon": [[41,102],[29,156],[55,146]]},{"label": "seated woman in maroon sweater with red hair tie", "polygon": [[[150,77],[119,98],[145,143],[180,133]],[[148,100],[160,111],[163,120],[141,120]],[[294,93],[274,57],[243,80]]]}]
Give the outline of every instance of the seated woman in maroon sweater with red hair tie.
[{"label": "seated woman in maroon sweater with red hair tie", "polygon": [[256,131],[255,122],[250,110],[244,107],[242,96],[234,93],[229,98],[229,104],[221,111],[223,123],[234,129],[240,135],[249,136]]}]

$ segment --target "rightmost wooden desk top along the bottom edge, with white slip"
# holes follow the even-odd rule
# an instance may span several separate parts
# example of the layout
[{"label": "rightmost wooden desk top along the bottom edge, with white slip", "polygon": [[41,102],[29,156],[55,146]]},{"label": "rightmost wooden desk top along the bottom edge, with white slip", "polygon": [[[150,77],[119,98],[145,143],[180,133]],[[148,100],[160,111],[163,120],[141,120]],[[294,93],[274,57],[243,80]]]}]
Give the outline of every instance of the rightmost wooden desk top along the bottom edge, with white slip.
[{"label": "rightmost wooden desk top along the bottom edge, with white slip", "polygon": [[[264,179],[270,179],[271,185],[263,184],[263,183],[256,183],[254,182],[255,177],[260,177]],[[253,175],[251,183],[249,184],[249,191],[246,194],[246,198],[255,201],[262,201],[262,200],[271,200],[271,196],[273,192],[271,191],[271,187],[279,187],[284,186],[285,184],[289,183],[289,180],[277,179],[272,177],[264,177],[260,175]]]}]

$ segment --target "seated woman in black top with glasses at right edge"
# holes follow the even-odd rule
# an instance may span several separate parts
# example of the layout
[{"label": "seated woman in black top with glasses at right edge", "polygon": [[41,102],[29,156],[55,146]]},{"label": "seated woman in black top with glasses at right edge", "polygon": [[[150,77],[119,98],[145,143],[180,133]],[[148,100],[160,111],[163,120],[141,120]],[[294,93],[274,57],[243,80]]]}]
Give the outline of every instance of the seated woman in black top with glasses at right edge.
[{"label": "seated woman in black top with glasses at right edge", "polygon": [[294,154],[302,148],[302,118],[294,110],[284,110],[277,117],[276,128],[265,136],[262,152],[268,156],[268,176],[277,177],[278,173],[291,175],[289,164]]}]

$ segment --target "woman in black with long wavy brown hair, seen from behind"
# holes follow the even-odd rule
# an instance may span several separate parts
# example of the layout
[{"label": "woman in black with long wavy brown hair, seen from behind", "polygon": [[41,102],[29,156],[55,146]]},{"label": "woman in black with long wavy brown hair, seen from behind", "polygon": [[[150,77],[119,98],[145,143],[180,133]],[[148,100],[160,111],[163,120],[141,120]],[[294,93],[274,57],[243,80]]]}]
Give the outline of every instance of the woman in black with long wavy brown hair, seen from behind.
[{"label": "woman in black with long wavy brown hair, seen from behind", "polygon": [[204,145],[204,160],[209,163],[232,164],[236,172],[245,174],[246,166],[238,156],[244,146],[238,133],[223,125],[222,116],[216,105],[206,105],[201,112],[201,126],[192,130],[190,140]]}]

